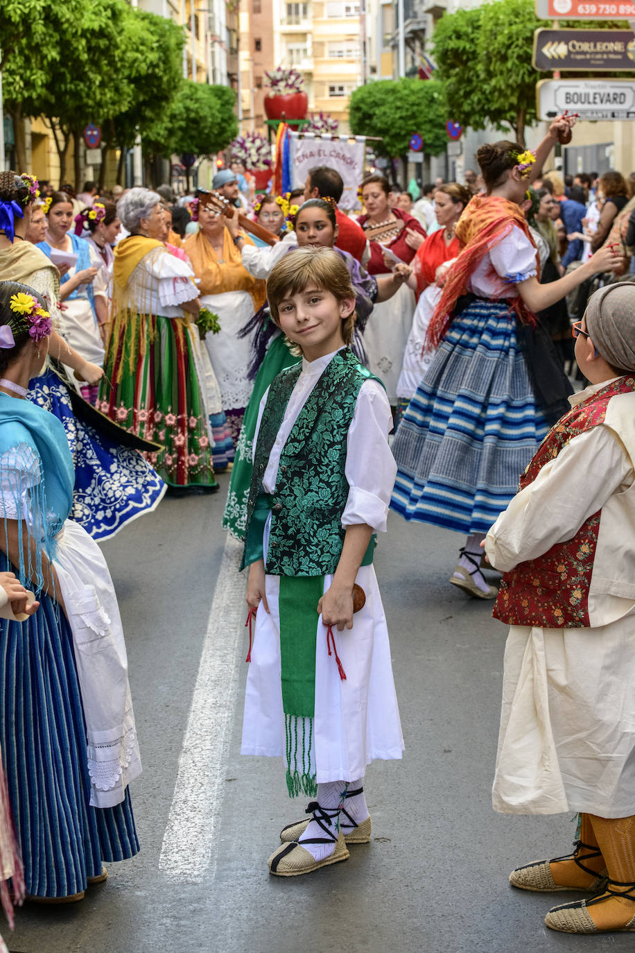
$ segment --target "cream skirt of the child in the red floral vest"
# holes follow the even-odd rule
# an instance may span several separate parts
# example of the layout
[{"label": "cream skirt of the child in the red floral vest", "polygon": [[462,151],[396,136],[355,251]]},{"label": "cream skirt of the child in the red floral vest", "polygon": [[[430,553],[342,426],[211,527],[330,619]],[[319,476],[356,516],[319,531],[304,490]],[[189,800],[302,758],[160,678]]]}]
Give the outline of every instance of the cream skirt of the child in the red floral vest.
[{"label": "cream skirt of the child in the red floral vest", "polygon": [[594,629],[510,628],[492,801],[635,814],[635,610]]}]

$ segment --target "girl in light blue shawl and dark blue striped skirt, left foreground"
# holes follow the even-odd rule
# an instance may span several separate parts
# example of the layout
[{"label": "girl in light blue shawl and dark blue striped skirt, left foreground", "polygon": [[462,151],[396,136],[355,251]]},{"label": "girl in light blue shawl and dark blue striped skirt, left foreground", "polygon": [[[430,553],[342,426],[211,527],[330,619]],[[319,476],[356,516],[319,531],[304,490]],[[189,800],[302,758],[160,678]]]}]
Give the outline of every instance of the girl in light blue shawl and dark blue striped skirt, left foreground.
[{"label": "girl in light blue shawl and dark blue striped skirt, left foreground", "polygon": [[0,745],[36,902],[82,900],[103,861],[139,850],[129,781],[141,772],[121,619],[97,544],[69,519],[60,421],[27,400],[50,338],[45,302],[0,283],[0,571],[40,605],[2,621]]}]

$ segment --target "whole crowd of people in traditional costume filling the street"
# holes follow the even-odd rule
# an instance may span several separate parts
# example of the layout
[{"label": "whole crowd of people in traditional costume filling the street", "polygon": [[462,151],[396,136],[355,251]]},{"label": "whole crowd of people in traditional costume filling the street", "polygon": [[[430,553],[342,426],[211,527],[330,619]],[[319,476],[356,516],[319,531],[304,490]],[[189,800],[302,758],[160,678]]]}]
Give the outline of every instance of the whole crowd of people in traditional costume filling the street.
[{"label": "whole crowd of people in traditional costume filling the street", "polygon": [[[230,168],[180,198],[0,172],[0,873],[16,901],[79,901],[138,850],[96,543],[229,472],[255,625],[243,752],[285,758],[289,794],[317,798],[270,872],[368,841],[367,764],[402,756],[372,567],[392,509],[466,536],[449,582],[511,625],[494,806],[581,813],[573,855],[512,883],[595,892],[551,911],[554,929],[632,928],[635,539],[615,543],[633,517],[635,178],[545,172],[574,122],[535,152],[484,145],[478,175],[417,194],[368,170],[357,216],[327,166],[284,195]],[[619,684],[615,710],[585,698],[589,673]]]}]

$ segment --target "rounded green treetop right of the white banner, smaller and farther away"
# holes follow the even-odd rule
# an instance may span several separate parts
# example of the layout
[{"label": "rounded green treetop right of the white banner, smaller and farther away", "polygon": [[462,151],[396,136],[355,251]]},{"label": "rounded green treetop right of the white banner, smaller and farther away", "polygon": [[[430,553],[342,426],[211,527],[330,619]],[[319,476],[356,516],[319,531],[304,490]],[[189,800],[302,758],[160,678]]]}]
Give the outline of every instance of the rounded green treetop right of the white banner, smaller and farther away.
[{"label": "rounded green treetop right of the white banner, smaller and farther away", "polygon": [[390,158],[405,155],[414,132],[432,155],[447,144],[444,87],[436,80],[381,79],[360,86],[350,96],[350,130],[354,135],[382,137],[375,152]]}]

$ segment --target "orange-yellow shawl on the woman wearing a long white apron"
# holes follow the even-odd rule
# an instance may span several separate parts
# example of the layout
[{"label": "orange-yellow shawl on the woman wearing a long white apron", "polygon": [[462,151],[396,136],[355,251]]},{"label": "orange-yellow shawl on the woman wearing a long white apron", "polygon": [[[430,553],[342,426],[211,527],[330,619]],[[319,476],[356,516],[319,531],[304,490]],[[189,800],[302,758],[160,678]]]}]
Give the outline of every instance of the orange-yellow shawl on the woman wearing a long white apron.
[{"label": "orange-yellow shawl on the woman wearing a long white apron", "polygon": [[[253,244],[248,238],[246,241]],[[253,301],[254,311],[258,311],[265,303],[267,297],[265,282],[254,278],[247,269],[243,268],[241,253],[234,245],[228,229],[223,230],[223,264],[219,264],[216,253],[200,229],[186,238],[184,248],[189,255],[194,274],[200,278],[201,294],[248,292]]]}]

